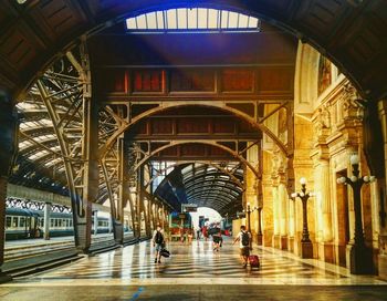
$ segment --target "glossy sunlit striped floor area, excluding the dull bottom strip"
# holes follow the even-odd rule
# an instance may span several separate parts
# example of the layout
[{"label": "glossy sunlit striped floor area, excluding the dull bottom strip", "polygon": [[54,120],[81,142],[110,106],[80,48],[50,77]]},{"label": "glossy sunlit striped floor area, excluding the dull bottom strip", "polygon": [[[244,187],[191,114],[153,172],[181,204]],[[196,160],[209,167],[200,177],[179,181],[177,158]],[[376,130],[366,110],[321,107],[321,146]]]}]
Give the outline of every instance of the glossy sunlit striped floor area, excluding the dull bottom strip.
[{"label": "glossy sunlit striped floor area, excluding the dull bottom strip", "polygon": [[[229,279],[234,283],[238,279],[243,283],[383,283],[375,277],[359,277],[348,274],[346,269],[332,264],[321,264],[316,260],[301,260],[289,252],[272,248],[255,247],[253,253],[261,258],[261,268],[243,269],[238,246],[232,246],[231,240],[224,241],[220,252],[213,252],[210,241],[194,241],[191,245],[171,242],[167,247],[171,257],[163,259],[163,263],[154,263],[154,250],[150,242],[142,242],[123,249],[85,258],[74,264],[62,267],[57,270],[35,276],[25,282],[41,282],[42,280],[59,279],[102,279],[106,280],[134,280],[151,279],[151,282],[164,283],[168,278],[187,278],[188,282],[179,280],[179,283],[189,283],[192,278],[208,278],[212,282],[217,279]],[[321,266],[318,266],[318,263]],[[79,283],[79,281],[76,281]],[[196,283],[203,281],[196,280]],[[237,281],[238,283],[238,281]]]}]

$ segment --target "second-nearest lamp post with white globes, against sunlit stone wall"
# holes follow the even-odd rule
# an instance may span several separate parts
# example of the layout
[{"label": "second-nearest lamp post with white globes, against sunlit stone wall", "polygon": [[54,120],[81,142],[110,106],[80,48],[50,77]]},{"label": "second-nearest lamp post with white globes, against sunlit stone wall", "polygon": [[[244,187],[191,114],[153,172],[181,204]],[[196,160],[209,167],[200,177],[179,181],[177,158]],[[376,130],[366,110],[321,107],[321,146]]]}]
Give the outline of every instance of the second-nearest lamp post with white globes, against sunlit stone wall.
[{"label": "second-nearest lamp post with white globes, against sunlit stone wall", "polygon": [[313,193],[306,193],[306,179],[301,178],[301,191],[293,193],[291,197],[295,199],[299,197],[302,200],[302,239],[301,239],[301,257],[313,258],[313,243],[310,239],[310,232],[307,229],[307,200],[313,196]]}]

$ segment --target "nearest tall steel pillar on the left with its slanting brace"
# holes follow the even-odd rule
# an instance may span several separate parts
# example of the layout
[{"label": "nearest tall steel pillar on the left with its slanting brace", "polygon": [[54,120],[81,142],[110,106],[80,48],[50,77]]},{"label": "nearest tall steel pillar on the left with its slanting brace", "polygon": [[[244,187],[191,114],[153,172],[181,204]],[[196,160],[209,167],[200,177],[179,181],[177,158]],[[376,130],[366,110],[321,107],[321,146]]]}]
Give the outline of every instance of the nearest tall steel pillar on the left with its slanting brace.
[{"label": "nearest tall steel pillar on the left with its slanting brace", "polygon": [[[73,210],[74,238],[75,247],[83,253],[87,253],[92,243],[92,204],[96,200],[100,186],[98,169],[98,103],[96,98],[92,98],[92,79],[90,71],[90,60],[86,43],[80,46],[81,62],[77,62],[74,55],[67,53],[67,59],[77,70],[82,79],[82,165],[83,170],[80,174],[81,185],[75,184],[75,168],[71,162],[64,160],[65,170],[70,187],[71,205]],[[54,125],[56,135],[60,139],[61,152],[67,155],[67,147],[63,136],[63,124],[56,114],[53,105],[49,101],[49,92],[38,82],[42,93],[43,101],[48,107],[49,114]]]}]

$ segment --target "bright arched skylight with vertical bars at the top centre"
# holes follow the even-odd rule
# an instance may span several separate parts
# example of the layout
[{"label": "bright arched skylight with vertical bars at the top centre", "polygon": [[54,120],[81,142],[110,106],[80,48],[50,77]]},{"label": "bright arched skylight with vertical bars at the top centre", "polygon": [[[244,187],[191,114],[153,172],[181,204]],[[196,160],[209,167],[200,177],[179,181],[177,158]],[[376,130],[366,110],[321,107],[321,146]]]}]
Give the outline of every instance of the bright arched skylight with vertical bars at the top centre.
[{"label": "bright arched skylight with vertical bars at the top centre", "polygon": [[260,20],[228,10],[180,8],[126,19],[130,32],[260,31]]}]

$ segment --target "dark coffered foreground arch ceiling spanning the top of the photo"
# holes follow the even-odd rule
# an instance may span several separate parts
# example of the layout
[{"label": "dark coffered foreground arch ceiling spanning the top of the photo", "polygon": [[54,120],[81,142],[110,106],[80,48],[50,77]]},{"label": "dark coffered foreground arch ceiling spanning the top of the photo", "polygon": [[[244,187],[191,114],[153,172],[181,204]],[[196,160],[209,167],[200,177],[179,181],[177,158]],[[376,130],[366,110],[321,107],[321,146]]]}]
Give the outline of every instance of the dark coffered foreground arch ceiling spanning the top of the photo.
[{"label": "dark coffered foreground arch ceiling spanning the top of the photo", "polygon": [[219,7],[285,28],[326,54],[367,98],[386,95],[387,2],[384,0],[0,1],[0,86],[19,95],[82,34],[124,17],[170,7]]}]

